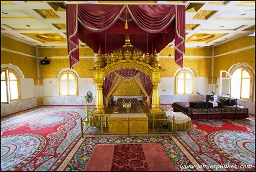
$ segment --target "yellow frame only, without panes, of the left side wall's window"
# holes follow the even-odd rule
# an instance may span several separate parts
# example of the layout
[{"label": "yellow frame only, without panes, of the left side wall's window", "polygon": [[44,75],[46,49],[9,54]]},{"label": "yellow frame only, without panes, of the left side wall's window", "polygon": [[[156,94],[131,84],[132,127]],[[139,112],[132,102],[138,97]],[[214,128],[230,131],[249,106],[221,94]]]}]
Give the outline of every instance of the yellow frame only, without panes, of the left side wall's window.
[{"label": "yellow frame only, without panes, of the left side wall's window", "polygon": [[[1,101],[1,104],[9,104],[12,102],[20,101],[21,100],[21,83],[20,83],[20,79],[19,79],[17,72],[14,69],[10,69],[8,67],[1,68],[1,74],[2,74],[2,71],[5,71],[5,80],[2,80],[2,78],[1,78],[1,82],[5,81],[5,84],[6,84],[7,102]],[[9,79],[10,72],[13,73],[15,75],[15,77],[17,78],[17,90],[18,90],[18,98],[17,99],[11,99],[11,88],[10,88],[10,79]],[[16,80],[11,80],[11,81],[16,81]]]}]

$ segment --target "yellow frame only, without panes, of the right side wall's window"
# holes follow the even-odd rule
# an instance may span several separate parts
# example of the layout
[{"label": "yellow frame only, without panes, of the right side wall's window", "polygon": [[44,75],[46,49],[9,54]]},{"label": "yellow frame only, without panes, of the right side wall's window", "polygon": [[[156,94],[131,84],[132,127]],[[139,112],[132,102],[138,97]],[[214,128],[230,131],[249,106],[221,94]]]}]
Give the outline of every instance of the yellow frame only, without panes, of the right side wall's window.
[{"label": "yellow frame only, without panes, of the right side wall's window", "polygon": [[[236,70],[239,70],[241,69],[241,78],[240,78],[240,97],[236,97],[236,98],[239,98],[239,99],[242,99],[242,100],[245,100],[245,101],[253,101],[253,93],[254,93],[254,74],[252,72],[252,70],[248,67],[244,67],[244,66],[241,66],[241,67],[237,67],[237,68],[234,68],[231,72],[231,80],[232,80],[232,76],[234,74],[234,72]],[[249,73],[249,75],[251,76],[250,79],[251,79],[251,83],[250,83],[250,98],[244,98],[244,97],[241,97],[242,96],[242,79],[245,79],[245,78],[248,78],[248,77],[242,77],[242,71],[245,70]],[[232,87],[232,84],[231,84],[231,87]]]}]

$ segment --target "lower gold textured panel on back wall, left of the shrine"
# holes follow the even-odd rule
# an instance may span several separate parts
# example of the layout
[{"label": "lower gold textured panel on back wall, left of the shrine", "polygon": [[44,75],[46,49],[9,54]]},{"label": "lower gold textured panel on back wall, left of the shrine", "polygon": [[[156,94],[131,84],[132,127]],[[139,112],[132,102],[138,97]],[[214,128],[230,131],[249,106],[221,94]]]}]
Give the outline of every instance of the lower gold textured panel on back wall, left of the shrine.
[{"label": "lower gold textured panel on back wall, left of the shrine", "polygon": [[[50,64],[41,65],[39,64],[40,76],[42,78],[55,78],[60,69],[70,68],[69,59],[49,59]],[[77,64],[74,69],[77,71],[80,78],[93,78],[94,73],[89,71],[93,69],[94,59],[80,59],[79,64]]]}]

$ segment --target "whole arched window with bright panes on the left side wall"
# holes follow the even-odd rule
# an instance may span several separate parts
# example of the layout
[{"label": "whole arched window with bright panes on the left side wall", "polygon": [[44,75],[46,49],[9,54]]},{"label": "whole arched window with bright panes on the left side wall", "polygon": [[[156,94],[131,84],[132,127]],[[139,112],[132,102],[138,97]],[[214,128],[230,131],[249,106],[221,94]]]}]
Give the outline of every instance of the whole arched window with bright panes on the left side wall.
[{"label": "whole arched window with bright panes on the left side wall", "polygon": [[9,68],[1,69],[1,103],[10,103],[21,99],[19,77]]}]

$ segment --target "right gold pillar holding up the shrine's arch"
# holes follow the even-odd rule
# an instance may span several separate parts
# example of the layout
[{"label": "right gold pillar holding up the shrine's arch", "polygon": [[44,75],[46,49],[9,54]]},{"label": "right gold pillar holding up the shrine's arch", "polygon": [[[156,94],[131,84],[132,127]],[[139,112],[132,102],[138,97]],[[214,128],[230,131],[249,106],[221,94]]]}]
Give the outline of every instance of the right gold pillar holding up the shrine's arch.
[{"label": "right gold pillar holding up the shrine's arch", "polygon": [[159,90],[158,86],[160,83],[160,73],[153,72],[152,73],[152,108],[150,110],[151,113],[159,113],[163,112],[160,110],[160,99],[159,99]]}]

